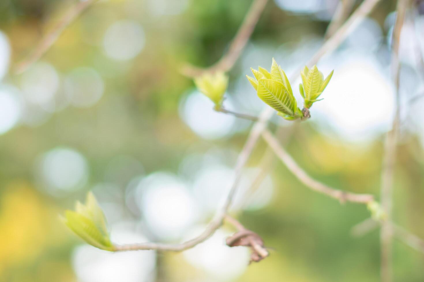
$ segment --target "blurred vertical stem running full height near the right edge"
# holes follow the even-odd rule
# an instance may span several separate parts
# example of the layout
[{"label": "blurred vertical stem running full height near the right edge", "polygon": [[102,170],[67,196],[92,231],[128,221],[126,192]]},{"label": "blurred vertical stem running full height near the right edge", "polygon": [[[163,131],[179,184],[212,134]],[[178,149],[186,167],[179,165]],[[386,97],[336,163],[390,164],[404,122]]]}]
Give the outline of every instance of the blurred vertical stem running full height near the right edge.
[{"label": "blurred vertical stem running full height near the right edge", "polygon": [[392,129],[388,132],[385,142],[383,168],[381,174],[381,205],[387,216],[380,230],[381,244],[381,281],[392,281],[392,226],[391,222],[393,202],[393,168],[396,160],[396,143],[400,123],[400,93],[399,93],[399,45],[400,35],[407,8],[407,0],[398,0],[396,8],[396,22],[393,27],[391,71],[393,84],[396,89],[396,113],[393,118]]}]

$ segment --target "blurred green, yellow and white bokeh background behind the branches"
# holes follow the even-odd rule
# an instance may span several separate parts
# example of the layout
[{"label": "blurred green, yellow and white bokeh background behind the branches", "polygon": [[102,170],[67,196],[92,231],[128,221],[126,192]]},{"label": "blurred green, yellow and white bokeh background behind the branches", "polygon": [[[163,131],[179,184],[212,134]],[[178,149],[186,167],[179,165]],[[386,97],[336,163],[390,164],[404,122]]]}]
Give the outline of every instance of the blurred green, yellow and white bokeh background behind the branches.
[{"label": "blurred green, yellow and white bokeh background behind the branches", "polygon": [[[356,8],[361,1],[353,1]],[[13,71],[76,0],[0,1],[1,282],[371,282],[379,280],[379,232],[351,227],[369,216],[310,191],[275,161],[262,181],[260,141],[232,213],[272,248],[248,266],[225,225],[182,253],[109,253],[80,241],[59,214],[93,191],[114,242],[179,242],[220,206],[251,122],[214,112],[179,72],[226,52],[251,0],[100,0],[40,60]],[[422,3],[417,3],[418,7]],[[229,72],[224,106],[265,107],[245,78],[271,59],[291,74],[321,46],[337,0],[270,0]],[[415,6],[416,7],[416,6]],[[271,129],[313,177],[379,195],[382,147],[394,112],[390,79],[396,2],[383,0],[318,67],[333,78],[295,130]],[[422,10],[422,8],[421,8]],[[424,16],[402,29],[402,125],[394,221],[424,237]],[[299,80],[300,81],[300,80]],[[292,81],[298,101],[301,97]],[[418,98],[417,98],[418,97]],[[299,102],[300,103],[300,102]],[[287,129],[287,130],[286,130]],[[282,141],[283,142],[283,141]],[[252,187],[253,186],[253,187]],[[394,280],[424,281],[424,255],[394,242]]]}]

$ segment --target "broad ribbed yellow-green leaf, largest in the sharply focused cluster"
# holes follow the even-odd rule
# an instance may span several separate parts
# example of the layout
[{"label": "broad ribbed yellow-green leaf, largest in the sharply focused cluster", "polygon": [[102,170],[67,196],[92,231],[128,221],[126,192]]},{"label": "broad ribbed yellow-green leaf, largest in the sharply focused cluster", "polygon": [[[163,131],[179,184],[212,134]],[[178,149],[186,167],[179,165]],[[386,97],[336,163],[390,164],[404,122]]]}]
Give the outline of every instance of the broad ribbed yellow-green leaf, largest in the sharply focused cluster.
[{"label": "broad ribbed yellow-green leaf, largest in the sharply focused cluster", "polygon": [[294,116],[297,107],[296,99],[285,88],[284,84],[272,79],[258,80],[258,97],[277,112]]}]

